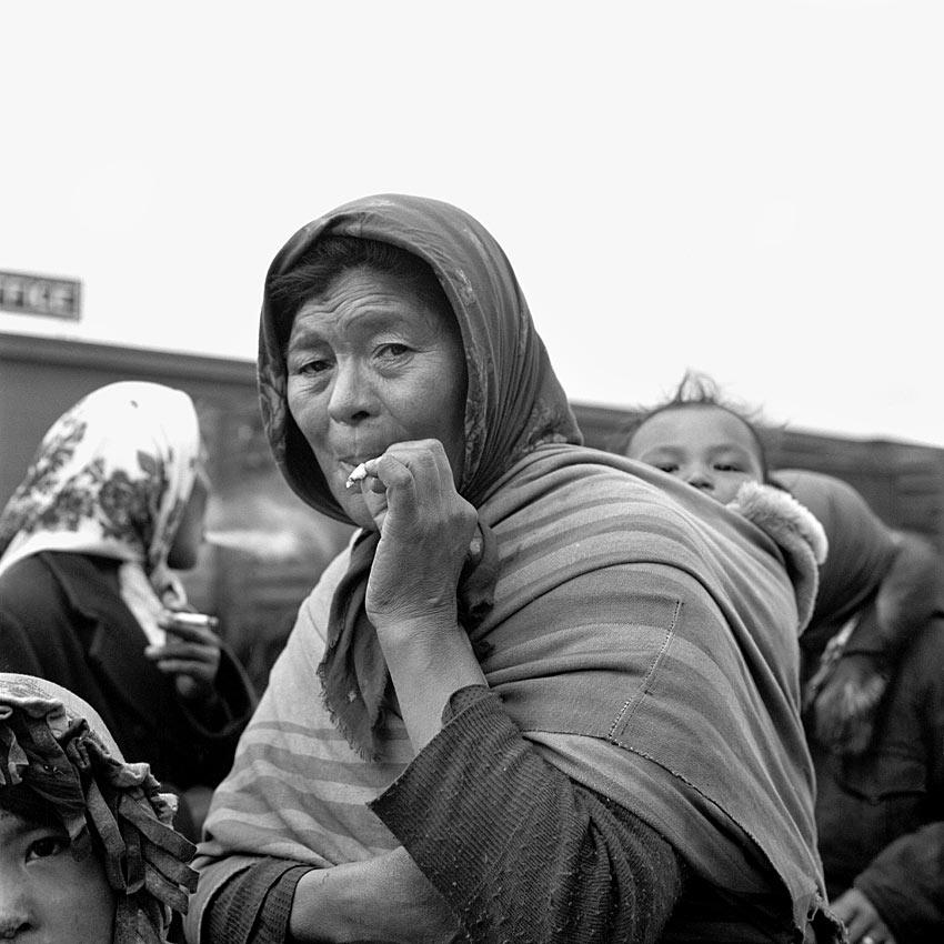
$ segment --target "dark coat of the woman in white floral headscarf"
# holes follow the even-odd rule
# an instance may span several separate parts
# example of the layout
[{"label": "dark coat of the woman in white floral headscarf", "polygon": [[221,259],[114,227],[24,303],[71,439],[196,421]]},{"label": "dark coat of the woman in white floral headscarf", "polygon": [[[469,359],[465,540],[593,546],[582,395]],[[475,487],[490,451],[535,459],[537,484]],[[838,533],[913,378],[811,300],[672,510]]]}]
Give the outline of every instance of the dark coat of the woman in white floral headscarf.
[{"label": "dark coat of the woman in white floral headscarf", "polygon": [[0,575],[0,671],[63,685],[98,711],[124,759],[165,787],[215,786],[232,764],[254,696],[222,651],[219,700],[202,712],[143,654],[144,632],[119,592],[120,562],[44,551]]}]

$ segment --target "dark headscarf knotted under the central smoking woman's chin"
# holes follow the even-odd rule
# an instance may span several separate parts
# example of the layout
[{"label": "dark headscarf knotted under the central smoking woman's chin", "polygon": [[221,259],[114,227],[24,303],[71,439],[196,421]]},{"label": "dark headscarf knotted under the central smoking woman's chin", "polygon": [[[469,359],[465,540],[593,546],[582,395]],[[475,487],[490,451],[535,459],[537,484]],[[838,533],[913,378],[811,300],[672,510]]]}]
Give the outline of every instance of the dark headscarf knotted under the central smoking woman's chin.
[{"label": "dark headscarf knotted under the central smoking woman's chin", "polygon": [[[460,494],[480,505],[501,476],[536,445],[580,443],[566,396],[534,330],[528,303],[501,247],[472,217],[436,200],[383,194],[348,203],[295,233],[269,269],[263,299],[259,384],[262,418],[275,461],[291,488],[309,505],[348,521],[311,449],[289,412],[284,324],[271,281],[291,269],[327,235],[391,243],[426,262],[442,285],[459,324],[469,376],[465,456]],[[358,543],[332,610],[328,653],[319,672],[325,701],[349,741],[373,752],[386,667],[363,609],[378,535]],[[463,574],[460,612],[488,601],[494,559],[485,554],[476,572]]]}]

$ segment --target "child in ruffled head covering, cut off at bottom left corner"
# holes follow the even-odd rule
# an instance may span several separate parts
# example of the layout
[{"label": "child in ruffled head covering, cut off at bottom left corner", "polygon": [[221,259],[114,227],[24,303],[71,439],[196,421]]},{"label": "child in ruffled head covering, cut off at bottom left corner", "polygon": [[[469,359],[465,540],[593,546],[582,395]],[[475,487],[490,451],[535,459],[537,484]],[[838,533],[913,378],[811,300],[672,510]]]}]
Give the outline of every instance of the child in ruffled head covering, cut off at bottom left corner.
[{"label": "child in ruffled head covering, cut off at bottom left corner", "polygon": [[175,801],[72,692],[0,673],[0,937],[171,940],[197,884]]}]

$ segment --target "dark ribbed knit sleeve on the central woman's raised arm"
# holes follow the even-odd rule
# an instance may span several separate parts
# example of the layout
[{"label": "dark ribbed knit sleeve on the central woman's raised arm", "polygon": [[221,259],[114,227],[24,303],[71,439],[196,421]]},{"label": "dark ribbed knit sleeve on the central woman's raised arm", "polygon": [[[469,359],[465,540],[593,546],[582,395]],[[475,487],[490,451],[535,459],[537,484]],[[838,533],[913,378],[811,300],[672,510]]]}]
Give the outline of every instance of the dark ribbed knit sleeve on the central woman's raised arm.
[{"label": "dark ribbed knit sleeve on the central woman's raised arm", "polygon": [[483,686],[371,809],[473,942],[656,941],[683,884],[675,852],[528,745]]}]

